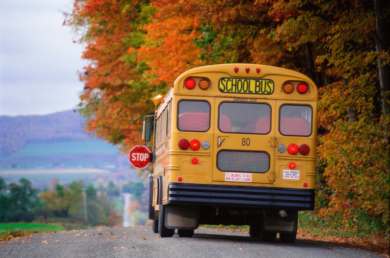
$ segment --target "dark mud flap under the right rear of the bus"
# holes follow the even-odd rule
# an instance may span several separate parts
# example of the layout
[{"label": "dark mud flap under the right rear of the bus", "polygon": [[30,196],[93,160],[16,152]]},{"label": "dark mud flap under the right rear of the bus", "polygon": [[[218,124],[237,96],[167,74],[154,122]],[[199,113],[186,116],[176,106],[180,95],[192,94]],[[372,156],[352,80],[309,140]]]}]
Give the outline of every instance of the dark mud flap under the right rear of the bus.
[{"label": "dark mud flap under the right rear of the bus", "polygon": [[264,232],[294,233],[298,226],[298,211],[286,211],[286,217],[274,213],[263,213],[261,228]]}]

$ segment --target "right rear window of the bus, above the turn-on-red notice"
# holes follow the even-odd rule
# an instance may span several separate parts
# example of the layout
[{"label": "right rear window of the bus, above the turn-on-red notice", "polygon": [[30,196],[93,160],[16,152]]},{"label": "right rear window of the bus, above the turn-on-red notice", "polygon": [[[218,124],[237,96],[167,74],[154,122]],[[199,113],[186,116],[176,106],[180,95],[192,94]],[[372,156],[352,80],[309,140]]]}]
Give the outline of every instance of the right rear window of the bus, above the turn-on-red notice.
[{"label": "right rear window of the bus, above the turn-on-red notice", "polygon": [[300,105],[280,107],[279,132],[283,135],[309,136],[312,134],[312,108]]}]

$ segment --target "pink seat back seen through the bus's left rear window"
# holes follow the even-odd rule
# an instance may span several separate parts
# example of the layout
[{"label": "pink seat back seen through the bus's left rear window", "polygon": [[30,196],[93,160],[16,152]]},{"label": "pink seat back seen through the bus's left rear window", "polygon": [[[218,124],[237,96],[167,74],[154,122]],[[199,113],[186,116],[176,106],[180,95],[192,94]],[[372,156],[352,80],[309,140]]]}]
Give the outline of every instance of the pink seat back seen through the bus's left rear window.
[{"label": "pink seat back seen through the bus's left rear window", "polygon": [[207,131],[210,127],[210,114],[201,112],[184,112],[179,115],[179,130]]}]

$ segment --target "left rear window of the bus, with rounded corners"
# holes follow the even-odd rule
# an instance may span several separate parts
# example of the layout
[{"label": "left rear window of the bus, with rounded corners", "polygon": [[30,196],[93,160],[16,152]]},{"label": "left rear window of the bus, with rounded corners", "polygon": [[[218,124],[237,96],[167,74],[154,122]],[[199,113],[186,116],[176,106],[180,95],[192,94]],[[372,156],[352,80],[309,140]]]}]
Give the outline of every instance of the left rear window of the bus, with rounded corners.
[{"label": "left rear window of the bus, with rounded corners", "polygon": [[181,100],[177,116],[180,131],[206,132],[210,128],[210,104],[207,101]]}]

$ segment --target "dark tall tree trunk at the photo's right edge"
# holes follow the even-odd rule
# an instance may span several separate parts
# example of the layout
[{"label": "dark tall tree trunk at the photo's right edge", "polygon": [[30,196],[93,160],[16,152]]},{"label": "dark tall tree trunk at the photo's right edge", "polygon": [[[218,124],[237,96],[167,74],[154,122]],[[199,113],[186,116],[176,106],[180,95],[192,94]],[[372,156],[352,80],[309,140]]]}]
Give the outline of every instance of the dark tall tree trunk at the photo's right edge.
[{"label": "dark tall tree trunk at the photo's right edge", "polygon": [[[389,53],[389,2],[388,0],[374,0],[375,30],[374,39],[376,52]],[[379,91],[381,94],[381,108],[383,114],[382,126],[386,127],[386,119],[389,115],[389,104],[386,93],[389,92],[389,65],[383,64],[383,59],[378,57]],[[385,128],[386,129],[386,128]],[[386,131],[386,130],[385,130]]]}]

